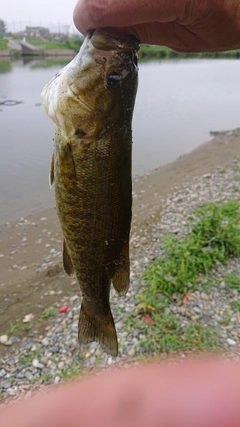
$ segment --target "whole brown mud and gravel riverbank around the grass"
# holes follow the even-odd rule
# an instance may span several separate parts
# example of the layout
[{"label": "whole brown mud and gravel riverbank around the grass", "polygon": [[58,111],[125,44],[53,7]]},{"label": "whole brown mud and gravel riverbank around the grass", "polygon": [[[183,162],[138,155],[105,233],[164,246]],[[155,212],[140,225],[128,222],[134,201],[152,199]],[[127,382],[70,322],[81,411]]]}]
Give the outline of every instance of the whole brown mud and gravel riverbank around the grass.
[{"label": "whole brown mud and gravel riverbank around the grass", "polygon": [[[127,328],[126,319],[131,314],[137,318],[137,293],[144,266],[160,253],[159,244],[166,232],[181,233],[182,222],[197,204],[226,197],[239,199],[239,158],[240,129],[219,132],[192,153],[134,179],[131,289],[124,298],[113,296],[112,302],[120,342],[117,363],[127,365],[133,356],[142,354],[142,332],[137,325]],[[79,289],[62,270],[62,238],[55,209],[7,223],[0,232],[0,335],[6,336],[0,344],[0,392],[14,396],[36,383],[57,383],[62,377],[96,365],[112,366],[115,362],[96,344],[79,350]],[[232,260],[226,268],[237,273],[238,260]],[[220,270],[218,275],[223,278],[224,271]],[[233,297],[222,286],[220,290],[214,288],[210,296],[206,292],[193,293],[189,304],[197,316],[204,310],[211,311],[208,304],[215,307],[225,337],[219,342],[222,348],[228,346],[238,360],[239,320],[230,306]],[[60,314],[64,304],[69,310]],[[187,304],[170,309],[186,320]],[[231,321],[222,324],[226,311]],[[30,314],[29,321],[23,322]],[[217,322],[217,318],[208,319]],[[165,352],[161,355],[167,357]]]}]

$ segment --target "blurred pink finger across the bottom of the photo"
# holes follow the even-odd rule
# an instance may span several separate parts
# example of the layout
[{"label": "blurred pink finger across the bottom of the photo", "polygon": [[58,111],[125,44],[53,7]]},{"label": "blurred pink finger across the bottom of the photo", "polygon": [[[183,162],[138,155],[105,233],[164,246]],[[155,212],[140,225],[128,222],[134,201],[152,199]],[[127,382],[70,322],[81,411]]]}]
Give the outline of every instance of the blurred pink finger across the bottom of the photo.
[{"label": "blurred pink finger across the bottom of the photo", "polygon": [[239,427],[240,366],[155,364],[92,376],[0,409],[1,427]]}]

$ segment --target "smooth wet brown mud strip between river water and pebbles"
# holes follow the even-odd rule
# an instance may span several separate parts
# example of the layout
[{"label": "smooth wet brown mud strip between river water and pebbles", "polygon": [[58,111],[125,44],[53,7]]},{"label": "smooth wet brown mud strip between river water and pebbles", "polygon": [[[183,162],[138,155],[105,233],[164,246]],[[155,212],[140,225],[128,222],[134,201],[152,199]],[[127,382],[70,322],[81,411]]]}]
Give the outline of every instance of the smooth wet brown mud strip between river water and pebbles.
[{"label": "smooth wet brown mud strip between river water and pebbles", "polygon": [[[225,168],[239,157],[240,129],[219,132],[190,154],[134,179],[131,253],[140,244],[143,248],[150,244],[147,235],[153,218],[161,215],[163,201],[171,190],[216,167]],[[142,234],[137,245],[136,230]],[[30,312],[35,314],[32,327],[41,334],[46,323],[37,322],[37,316],[43,307],[56,303],[58,295],[79,293],[76,281],[63,272],[61,250],[55,209],[0,226],[0,335]],[[18,340],[27,334],[19,331]],[[7,352],[8,347],[0,345],[0,356]]]}]

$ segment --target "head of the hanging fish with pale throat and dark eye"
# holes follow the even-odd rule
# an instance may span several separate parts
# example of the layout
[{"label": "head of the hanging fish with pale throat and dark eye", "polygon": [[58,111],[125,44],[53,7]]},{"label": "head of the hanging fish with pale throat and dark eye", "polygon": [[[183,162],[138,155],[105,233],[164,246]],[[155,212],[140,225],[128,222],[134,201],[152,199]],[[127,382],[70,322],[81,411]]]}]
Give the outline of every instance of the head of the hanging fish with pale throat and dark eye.
[{"label": "head of the hanging fish with pale throat and dark eye", "polygon": [[89,31],[76,57],[44,87],[45,110],[68,137],[98,137],[120,117],[132,119],[138,47],[133,36]]}]

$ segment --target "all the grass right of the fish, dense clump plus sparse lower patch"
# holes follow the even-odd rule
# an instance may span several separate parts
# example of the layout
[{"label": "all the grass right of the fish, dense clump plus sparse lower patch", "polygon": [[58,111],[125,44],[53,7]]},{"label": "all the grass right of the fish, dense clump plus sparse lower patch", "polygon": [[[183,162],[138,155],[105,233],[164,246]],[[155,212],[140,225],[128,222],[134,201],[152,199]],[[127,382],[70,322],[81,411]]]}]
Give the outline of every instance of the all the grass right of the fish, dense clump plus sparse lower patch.
[{"label": "all the grass right of the fish, dense clump plus sparse lower patch", "polygon": [[[201,324],[195,312],[189,309],[186,316],[191,322],[180,324],[169,305],[176,302],[178,305],[184,294],[202,287],[204,282],[204,286],[209,285],[211,281],[206,275],[217,262],[226,263],[230,256],[239,257],[240,202],[203,205],[188,218],[187,227],[191,231],[184,238],[166,236],[164,255],[143,274],[146,287],[139,295],[139,316],[137,319],[130,316],[125,323],[127,330],[141,329],[143,352],[177,353],[218,347],[216,331]],[[231,274],[225,280],[230,288],[240,292],[240,277]],[[221,323],[230,323],[228,312]]]}]

